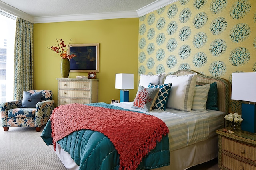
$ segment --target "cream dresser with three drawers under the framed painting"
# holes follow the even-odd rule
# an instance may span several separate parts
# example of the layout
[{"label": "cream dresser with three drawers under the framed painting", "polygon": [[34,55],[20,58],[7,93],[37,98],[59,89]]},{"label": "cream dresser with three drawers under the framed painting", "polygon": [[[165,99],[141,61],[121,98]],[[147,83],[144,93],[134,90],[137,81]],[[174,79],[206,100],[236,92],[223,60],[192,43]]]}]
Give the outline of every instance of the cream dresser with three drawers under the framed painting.
[{"label": "cream dresser with three drawers under the framed painting", "polygon": [[98,102],[98,79],[57,78],[58,106]]}]

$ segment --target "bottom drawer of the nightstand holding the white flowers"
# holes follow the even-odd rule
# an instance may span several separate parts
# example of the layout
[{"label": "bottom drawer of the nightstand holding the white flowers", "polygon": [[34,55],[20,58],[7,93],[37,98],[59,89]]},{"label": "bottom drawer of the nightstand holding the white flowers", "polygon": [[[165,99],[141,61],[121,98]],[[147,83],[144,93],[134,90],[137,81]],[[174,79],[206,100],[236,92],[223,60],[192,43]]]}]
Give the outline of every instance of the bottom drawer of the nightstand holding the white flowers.
[{"label": "bottom drawer of the nightstand holding the white flowers", "polygon": [[230,170],[255,170],[256,166],[236,160],[226,154],[222,154],[222,166]]}]

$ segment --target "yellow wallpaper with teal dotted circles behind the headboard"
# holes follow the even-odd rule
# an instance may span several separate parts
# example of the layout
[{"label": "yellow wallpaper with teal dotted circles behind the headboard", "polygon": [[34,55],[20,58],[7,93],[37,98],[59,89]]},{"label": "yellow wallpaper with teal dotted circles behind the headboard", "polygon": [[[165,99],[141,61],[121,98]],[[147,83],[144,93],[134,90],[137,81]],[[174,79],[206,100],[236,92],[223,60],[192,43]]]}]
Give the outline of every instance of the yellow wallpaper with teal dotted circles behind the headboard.
[{"label": "yellow wallpaper with teal dotted circles behind the headboard", "polygon": [[256,2],[179,0],[139,18],[138,49],[138,75],[191,69],[232,83],[256,72]]}]

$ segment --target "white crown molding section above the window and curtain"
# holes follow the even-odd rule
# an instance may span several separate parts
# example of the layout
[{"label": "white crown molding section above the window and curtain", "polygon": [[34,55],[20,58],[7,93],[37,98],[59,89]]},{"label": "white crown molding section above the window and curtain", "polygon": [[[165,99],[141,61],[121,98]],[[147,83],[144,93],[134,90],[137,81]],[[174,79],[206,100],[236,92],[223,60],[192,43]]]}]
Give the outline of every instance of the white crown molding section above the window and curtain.
[{"label": "white crown molding section above the window and curtain", "polygon": [[3,10],[4,12],[7,12],[8,14],[22,18],[23,20],[29,21],[31,23],[34,23],[34,17],[26,14],[25,12],[22,12],[21,10],[18,10],[17,8],[14,8],[2,1],[0,1],[0,10]]}]

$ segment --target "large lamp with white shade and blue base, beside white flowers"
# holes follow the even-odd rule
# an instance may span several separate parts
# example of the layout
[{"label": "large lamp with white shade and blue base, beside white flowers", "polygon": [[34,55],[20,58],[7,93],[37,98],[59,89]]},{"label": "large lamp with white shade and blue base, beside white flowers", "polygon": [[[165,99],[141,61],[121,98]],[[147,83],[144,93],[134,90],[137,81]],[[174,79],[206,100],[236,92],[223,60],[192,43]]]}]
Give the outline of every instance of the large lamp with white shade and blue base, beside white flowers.
[{"label": "large lamp with white shade and blue base, beside white flowers", "polygon": [[256,133],[256,72],[232,73],[232,100],[242,100],[241,130]]}]

